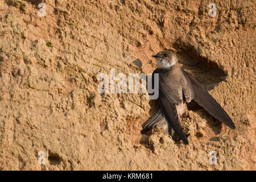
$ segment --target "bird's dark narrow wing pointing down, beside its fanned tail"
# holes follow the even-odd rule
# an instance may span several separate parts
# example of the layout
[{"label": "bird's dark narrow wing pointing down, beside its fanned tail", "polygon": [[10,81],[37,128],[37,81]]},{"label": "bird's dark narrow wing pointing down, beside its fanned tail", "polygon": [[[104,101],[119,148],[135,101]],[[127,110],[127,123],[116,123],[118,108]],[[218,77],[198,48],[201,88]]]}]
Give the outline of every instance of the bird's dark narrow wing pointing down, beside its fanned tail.
[{"label": "bird's dark narrow wing pointing down, beside its fanned tail", "polygon": [[170,100],[168,100],[164,96],[160,96],[159,98],[160,106],[166,114],[167,121],[171,125],[172,129],[174,129],[175,134],[179,137],[185,144],[188,144],[187,136],[184,134],[183,129],[180,125],[180,120],[177,115],[176,104]]}]

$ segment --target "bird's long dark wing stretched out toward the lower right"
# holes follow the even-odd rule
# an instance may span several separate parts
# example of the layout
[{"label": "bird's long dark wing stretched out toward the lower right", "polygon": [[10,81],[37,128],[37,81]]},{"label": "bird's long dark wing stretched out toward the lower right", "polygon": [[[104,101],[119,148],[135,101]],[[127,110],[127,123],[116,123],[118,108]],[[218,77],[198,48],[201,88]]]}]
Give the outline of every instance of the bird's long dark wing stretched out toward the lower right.
[{"label": "bird's long dark wing stretched out toward the lower right", "polygon": [[232,119],[225,112],[224,109],[218,104],[216,100],[205,90],[198,81],[195,80],[188,72],[183,70],[183,74],[186,77],[187,81],[191,83],[193,89],[193,99],[203,107],[210,115],[218,119],[226,126],[229,126],[231,129],[236,129]]}]

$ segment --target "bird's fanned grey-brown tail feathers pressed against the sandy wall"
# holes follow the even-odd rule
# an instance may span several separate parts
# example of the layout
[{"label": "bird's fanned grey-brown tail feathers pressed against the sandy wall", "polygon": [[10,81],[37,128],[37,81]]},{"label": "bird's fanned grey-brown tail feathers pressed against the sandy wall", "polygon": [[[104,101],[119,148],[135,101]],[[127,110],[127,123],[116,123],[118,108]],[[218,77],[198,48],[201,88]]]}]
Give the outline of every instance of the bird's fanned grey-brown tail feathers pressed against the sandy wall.
[{"label": "bird's fanned grey-brown tail feathers pressed against the sandy wall", "polygon": [[157,113],[146,123],[141,130],[141,133],[146,133],[151,129],[164,129],[164,133],[172,136],[171,126],[168,125],[166,115],[162,109],[159,109]]}]

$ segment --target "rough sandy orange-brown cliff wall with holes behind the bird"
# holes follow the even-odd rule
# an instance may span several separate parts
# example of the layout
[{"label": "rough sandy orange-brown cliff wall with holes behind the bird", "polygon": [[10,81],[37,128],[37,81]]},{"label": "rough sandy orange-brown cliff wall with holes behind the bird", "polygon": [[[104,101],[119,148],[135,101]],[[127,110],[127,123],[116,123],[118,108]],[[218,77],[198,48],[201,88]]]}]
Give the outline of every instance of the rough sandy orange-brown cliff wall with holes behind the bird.
[{"label": "rough sandy orange-brown cliff wall with holes behind the bird", "polygon": [[[256,169],[254,1],[214,1],[214,18],[212,1],[51,0],[46,17],[40,2],[0,1],[0,169]],[[98,74],[152,73],[151,55],[166,49],[236,130],[191,105],[188,145],[142,135],[155,101],[97,92]]]}]

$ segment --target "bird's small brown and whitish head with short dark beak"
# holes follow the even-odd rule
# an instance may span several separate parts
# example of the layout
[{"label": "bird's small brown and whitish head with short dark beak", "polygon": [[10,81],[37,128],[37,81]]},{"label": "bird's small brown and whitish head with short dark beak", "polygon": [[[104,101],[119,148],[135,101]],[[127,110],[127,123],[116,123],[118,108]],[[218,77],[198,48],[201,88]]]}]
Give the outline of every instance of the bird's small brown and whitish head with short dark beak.
[{"label": "bird's small brown and whitish head with short dark beak", "polygon": [[177,58],[170,51],[161,51],[152,57],[155,57],[158,68],[171,68],[177,63]]}]

